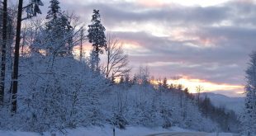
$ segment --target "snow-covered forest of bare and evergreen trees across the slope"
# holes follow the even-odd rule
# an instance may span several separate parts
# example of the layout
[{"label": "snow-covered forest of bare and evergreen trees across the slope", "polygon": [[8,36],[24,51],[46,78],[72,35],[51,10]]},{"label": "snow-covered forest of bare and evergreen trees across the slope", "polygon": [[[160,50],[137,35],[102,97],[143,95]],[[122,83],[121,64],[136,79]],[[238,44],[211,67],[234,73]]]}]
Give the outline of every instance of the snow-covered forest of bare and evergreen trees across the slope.
[{"label": "snow-covered forest of bare and evergreen trees across the slope", "polygon": [[[109,124],[119,129],[178,126],[256,133],[255,52],[245,73],[244,115],[237,115],[181,84],[168,84],[165,77],[152,79],[147,66],[132,73],[126,50],[114,34],[106,33],[97,9],[90,24],[84,24],[77,15],[64,12],[58,0],[50,0],[46,16],[34,17],[41,16],[44,4],[31,1],[26,18],[20,16],[18,36],[18,7],[4,2],[0,129],[64,133],[64,129]],[[83,48],[85,43],[91,50]]]}]

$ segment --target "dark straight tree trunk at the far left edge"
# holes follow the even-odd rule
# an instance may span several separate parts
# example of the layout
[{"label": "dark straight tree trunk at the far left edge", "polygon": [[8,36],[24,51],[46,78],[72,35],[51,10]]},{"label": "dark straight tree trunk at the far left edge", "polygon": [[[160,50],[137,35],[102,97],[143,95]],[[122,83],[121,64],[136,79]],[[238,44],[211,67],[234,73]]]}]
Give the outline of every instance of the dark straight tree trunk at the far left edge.
[{"label": "dark straight tree trunk at the far left edge", "polygon": [[2,12],[2,56],[1,56],[1,79],[0,79],[0,105],[3,105],[5,66],[6,66],[6,47],[7,47],[7,0],[3,2]]}]

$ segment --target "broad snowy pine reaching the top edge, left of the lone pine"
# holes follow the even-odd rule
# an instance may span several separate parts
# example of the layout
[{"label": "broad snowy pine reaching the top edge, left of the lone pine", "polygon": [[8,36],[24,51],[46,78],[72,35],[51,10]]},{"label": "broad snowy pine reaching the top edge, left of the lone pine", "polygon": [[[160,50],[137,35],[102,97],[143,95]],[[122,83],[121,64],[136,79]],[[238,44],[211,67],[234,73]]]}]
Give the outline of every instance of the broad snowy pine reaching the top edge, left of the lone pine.
[{"label": "broad snowy pine reaching the top edge, left of the lone pine", "polygon": [[70,25],[69,17],[60,12],[58,0],[51,0],[49,8],[46,16],[49,21],[45,24],[45,32],[48,35],[46,40],[55,44],[45,47],[46,54],[71,55],[73,27]]}]

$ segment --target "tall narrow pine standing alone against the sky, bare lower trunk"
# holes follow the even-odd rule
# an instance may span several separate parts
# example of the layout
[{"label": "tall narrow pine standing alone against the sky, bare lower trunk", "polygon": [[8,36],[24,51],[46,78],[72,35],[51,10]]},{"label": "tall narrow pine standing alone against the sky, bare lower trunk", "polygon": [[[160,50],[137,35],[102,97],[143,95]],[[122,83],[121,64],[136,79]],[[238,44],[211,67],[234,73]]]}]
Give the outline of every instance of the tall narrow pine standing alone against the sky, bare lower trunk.
[{"label": "tall narrow pine standing alone against the sky, bare lower trunk", "polygon": [[92,25],[88,25],[88,40],[92,43],[93,52],[95,52],[96,71],[98,72],[99,54],[103,52],[102,48],[107,48],[107,40],[104,31],[106,30],[101,23],[99,10],[93,10]]}]

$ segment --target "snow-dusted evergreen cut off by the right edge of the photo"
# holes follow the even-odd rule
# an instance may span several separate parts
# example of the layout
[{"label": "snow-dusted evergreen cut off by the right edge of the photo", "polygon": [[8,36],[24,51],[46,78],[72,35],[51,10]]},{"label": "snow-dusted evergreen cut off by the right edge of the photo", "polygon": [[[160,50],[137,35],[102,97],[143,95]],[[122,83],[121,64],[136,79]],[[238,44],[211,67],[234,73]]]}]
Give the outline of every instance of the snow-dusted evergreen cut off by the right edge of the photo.
[{"label": "snow-dusted evergreen cut off by the right edge of the photo", "polygon": [[256,134],[256,52],[250,54],[249,67],[246,70],[244,133]]}]

